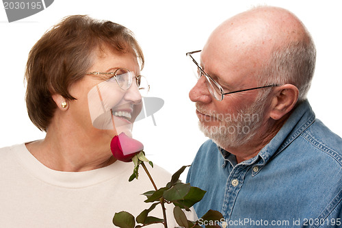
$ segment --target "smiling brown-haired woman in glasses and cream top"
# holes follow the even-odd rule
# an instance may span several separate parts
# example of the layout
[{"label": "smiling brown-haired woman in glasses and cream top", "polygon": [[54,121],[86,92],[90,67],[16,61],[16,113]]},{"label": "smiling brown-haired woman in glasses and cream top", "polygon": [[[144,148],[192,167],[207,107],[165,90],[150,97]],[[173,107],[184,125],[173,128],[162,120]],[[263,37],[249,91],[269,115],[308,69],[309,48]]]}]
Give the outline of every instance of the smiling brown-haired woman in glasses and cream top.
[{"label": "smiling brown-haired woman in glasses and cream top", "polygon": [[[0,149],[0,227],[113,227],[115,212],[136,216],[148,207],[141,195],[153,189],[148,177],[141,172],[129,183],[133,164],[110,151],[116,134],[131,136],[142,109],[143,65],[131,31],[111,21],[69,16],[38,40],[26,102],[47,134]],[[170,180],[165,170],[150,170],[157,186]]]}]

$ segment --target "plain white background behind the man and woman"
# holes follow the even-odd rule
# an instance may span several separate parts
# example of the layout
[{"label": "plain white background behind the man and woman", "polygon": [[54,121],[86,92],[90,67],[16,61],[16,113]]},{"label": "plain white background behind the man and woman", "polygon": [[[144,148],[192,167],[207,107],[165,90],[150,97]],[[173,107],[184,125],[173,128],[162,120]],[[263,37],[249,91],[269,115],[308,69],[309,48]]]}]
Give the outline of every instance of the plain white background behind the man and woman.
[{"label": "plain white background behind the man and woman", "polygon": [[[44,138],[29,121],[23,75],[27,55],[44,31],[71,14],[89,14],[131,29],[142,46],[142,75],[151,85],[149,97],[164,106],[135,123],[134,138],[144,143],[150,160],[174,173],[191,164],[206,140],[197,127],[188,92],[196,83],[185,53],[202,49],[222,21],[253,5],[275,5],[295,13],[311,31],[317,47],[317,67],[308,99],[317,118],[342,136],[341,8],[339,1],[81,1],[55,0],[46,10],[8,23],[0,8],[0,147]],[[184,178],[184,177],[183,177]]]}]

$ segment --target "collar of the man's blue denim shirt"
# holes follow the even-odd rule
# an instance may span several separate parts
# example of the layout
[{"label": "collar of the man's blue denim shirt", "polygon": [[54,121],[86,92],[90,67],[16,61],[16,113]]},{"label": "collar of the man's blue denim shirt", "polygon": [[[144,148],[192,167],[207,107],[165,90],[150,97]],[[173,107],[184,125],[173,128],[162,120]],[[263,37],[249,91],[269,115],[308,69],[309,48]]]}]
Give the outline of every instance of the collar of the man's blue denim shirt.
[{"label": "collar of the man's blue denim shirt", "polygon": [[[308,128],[315,121],[315,113],[307,100],[300,103],[295,110],[293,110],[289,119],[282,126],[280,131],[272,138],[272,140],[258,153],[257,156],[246,160],[243,163],[246,165],[254,164],[257,162],[259,165],[265,165],[269,158],[277,155],[283,151],[295,138],[300,136],[302,132]],[[222,157],[224,158],[223,166],[230,162],[234,167],[237,162],[234,155],[228,151],[218,147]],[[260,158],[260,159],[259,159]]]}]

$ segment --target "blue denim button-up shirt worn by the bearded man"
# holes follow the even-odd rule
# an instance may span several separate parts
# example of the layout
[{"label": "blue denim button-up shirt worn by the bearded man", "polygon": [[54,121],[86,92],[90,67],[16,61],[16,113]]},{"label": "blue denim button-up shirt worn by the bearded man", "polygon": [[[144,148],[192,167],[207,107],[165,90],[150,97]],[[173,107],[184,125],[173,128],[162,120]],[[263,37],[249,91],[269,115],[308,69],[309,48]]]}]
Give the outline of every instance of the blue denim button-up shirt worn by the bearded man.
[{"label": "blue denim button-up shirt worn by the bearded man", "polygon": [[228,227],[342,227],[342,139],[315,118],[308,101],[240,164],[207,140],[187,182],[207,191],[194,206],[198,217],[218,210]]}]

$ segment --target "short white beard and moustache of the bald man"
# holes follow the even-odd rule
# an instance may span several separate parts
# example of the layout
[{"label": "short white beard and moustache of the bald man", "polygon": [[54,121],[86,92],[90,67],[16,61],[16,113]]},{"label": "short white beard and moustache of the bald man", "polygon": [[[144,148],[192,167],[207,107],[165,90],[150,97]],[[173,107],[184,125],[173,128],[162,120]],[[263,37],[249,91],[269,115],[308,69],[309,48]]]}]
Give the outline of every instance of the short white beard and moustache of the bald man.
[{"label": "short white beard and moustache of the bald man", "polygon": [[[265,113],[266,98],[267,96],[264,94],[251,107],[239,110],[237,114],[217,114],[207,112],[203,107],[198,107],[199,110],[203,110],[205,113],[211,113],[212,116],[220,119],[219,126],[210,127],[198,121],[200,131],[213,140],[215,144],[218,144],[219,147],[241,147],[254,138],[261,127]],[[222,119],[224,116],[226,117]]]}]

